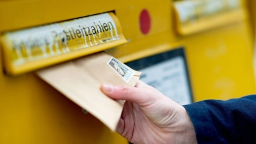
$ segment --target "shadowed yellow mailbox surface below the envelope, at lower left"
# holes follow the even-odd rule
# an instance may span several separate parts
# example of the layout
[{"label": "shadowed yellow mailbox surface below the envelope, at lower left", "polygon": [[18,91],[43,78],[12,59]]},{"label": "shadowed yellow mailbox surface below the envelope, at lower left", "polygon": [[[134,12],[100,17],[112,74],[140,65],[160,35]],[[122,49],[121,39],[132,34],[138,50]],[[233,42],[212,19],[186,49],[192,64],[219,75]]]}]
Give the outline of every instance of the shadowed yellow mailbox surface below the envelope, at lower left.
[{"label": "shadowed yellow mailbox surface below the envelope, at lower left", "polygon": [[127,143],[33,74],[1,74],[0,88],[0,143]]}]

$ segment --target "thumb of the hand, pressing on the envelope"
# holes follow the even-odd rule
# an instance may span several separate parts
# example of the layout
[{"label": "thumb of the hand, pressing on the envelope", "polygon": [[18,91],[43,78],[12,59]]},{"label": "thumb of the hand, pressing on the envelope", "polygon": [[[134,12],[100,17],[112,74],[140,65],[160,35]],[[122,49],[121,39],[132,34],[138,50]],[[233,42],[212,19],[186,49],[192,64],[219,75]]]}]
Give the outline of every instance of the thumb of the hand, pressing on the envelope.
[{"label": "thumb of the hand, pressing on the envelope", "polygon": [[154,97],[154,90],[146,88],[134,88],[131,86],[118,85],[113,86],[111,84],[102,84],[100,90],[106,95],[116,100],[127,100],[136,102],[140,106],[145,106],[148,102],[156,100]]}]

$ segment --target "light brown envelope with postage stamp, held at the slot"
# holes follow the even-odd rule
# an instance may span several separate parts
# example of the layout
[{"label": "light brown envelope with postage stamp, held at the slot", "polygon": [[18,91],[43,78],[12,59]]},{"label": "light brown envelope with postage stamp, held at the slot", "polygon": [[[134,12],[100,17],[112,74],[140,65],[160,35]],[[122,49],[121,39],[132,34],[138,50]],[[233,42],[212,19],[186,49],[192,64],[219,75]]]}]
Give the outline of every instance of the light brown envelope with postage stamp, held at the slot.
[{"label": "light brown envelope with postage stamp, held at the slot", "polygon": [[110,99],[100,91],[100,84],[135,86],[141,72],[105,52],[97,52],[39,70],[36,74],[115,131],[124,102]]}]

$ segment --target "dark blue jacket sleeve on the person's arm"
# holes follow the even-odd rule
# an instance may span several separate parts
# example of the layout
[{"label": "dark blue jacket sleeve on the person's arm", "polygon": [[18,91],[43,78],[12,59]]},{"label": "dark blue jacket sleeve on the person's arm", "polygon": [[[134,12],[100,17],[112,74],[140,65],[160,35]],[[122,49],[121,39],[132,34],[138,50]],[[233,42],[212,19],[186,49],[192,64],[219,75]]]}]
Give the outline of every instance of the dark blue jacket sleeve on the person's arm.
[{"label": "dark blue jacket sleeve on the person's arm", "polygon": [[201,143],[256,143],[256,95],[203,100],[184,108]]}]

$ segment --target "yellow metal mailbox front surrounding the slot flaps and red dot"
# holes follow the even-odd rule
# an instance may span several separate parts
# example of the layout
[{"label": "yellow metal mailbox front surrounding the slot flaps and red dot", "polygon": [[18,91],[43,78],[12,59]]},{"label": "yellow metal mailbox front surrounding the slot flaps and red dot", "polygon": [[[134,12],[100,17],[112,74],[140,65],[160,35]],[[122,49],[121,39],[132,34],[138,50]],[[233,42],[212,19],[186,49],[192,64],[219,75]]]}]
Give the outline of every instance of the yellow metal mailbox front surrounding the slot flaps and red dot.
[{"label": "yellow metal mailbox front surrounding the slot flaps and red dot", "polygon": [[[151,18],[147,35],[139,26],[144,9]],[[107,50],[123,62],[184,47],[196,101],[256,93],[248,17],[179,36],[167,0],[0,1],[0,33],[103,12],[115,12],[127,38],[127,44]],[[127,143],[33,73],[6,76],[3,53],[0,60],[0,143]]]}]

